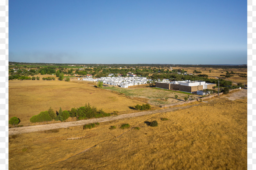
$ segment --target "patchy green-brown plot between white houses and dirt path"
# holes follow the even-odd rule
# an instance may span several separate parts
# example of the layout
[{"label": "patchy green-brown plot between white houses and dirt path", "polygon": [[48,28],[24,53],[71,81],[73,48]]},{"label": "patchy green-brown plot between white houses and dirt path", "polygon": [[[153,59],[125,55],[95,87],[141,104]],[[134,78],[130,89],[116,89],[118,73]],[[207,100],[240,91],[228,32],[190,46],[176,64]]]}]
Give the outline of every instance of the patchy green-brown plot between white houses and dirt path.
[{"label": "patchy green-brown plot between white houses and dirt path", "polygon": [[[183,94],[178,92],[172,92],[171,90],[162,90],[161,88],[155,89],[150,87],[143,88],[120,88],[120,87],[104,87],[107,90],[121,93],[123,95],[133,97],[134,99],[140,99],[142,101],[148,102],[151,105],[161,106],[163,104],[171,104],[176,102],[185,101],[184,97],[187,97],[189,94],[189,99],[198,99],[200,95],[194,94]],[[178,96],[175,99],[175,95]]]}]

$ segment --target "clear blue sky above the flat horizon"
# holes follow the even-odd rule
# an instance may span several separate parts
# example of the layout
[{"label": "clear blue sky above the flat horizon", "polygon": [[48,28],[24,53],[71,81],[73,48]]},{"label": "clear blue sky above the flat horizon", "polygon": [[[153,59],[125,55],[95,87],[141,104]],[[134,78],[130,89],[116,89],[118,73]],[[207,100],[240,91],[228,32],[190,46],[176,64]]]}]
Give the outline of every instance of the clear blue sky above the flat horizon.
[{"label": "clear blue sky above the flat horizon", "polygon": [[247,64],[247,1],[12,0],[9,61]]}]

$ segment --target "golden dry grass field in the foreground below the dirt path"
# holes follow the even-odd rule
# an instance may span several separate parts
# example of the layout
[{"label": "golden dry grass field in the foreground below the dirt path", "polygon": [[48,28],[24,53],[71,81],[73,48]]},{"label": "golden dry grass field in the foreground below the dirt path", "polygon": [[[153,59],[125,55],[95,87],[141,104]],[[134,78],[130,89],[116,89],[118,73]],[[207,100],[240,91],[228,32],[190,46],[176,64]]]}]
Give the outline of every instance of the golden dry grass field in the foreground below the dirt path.
[{"label": "golden dry grass field in the foreground below the dirt path", "polygon": [[[247,99],[228,96],[87,130],[78,126],[9,136],[9,168],[246,169]],[[153,120],[158,127],[144,123]],[[123,123],[130,128],[120,129]]]}]

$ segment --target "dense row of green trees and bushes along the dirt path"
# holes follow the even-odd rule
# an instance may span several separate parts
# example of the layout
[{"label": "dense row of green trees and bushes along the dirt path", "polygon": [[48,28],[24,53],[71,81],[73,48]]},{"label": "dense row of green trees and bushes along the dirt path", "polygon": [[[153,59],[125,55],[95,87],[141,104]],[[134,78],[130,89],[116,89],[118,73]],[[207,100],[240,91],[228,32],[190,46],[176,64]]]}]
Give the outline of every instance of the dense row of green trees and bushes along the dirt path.
[{"label": "dense row of green trees and bushes along the dirt path", "polygon": [[89,103],[80,108],[72,108],[70,111],[62,111],[61,107],[59,112],[54,113],[53,109],[50,107],[47,111],[41,112],[38,115],[34,115],[30,118],[30,122],[48,122],[48,121],[64,121],[69,117],[77,118],[79,120],[90,119],[90,118],[99,118],[110,116],[110,113],[105,113],[102,109],[98,110],[96,107],[91,106]]}]

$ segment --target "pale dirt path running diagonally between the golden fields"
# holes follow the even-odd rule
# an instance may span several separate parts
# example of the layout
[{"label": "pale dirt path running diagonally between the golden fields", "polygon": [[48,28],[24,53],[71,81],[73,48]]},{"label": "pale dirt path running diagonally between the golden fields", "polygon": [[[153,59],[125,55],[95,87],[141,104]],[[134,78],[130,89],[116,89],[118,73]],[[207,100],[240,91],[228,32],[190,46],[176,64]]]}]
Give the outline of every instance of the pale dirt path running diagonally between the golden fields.
[{"label": "pale dirt path running diagonally between the golden fields", "polygon": [[[243,97],[247,97],[246,89],[242,89],[242,90],[234,92],[230,95],[225,96],[225,98],[227,98],[229,100],[235,100],[235,99],[239,99],[239,98],[243,98]],[[200,104],[204,104],[204,102],[202,102]],[[180,106],[180,107],[174,107],[174,108],[165,108],[165,109],[144,111],[144,112],[137,112],[137,113],[128,113],[128,114],[122,114],[122,115],[118,115],[118,116],[101,117],[101,118],[90,119],[90,120],[79,120],[79,121],[75,121],[75,122],[62,122],[62,123],[52,123],[52,124],[44,124],[44,125],[36,125],[36,126],[28,126],[28,127],[11,128],[11,129],[9,129],[9,135],[30,133],[30,132],[36,132],[36,131],[58,129],[58,128],[67,128],[67,127],[72,127],[72,126],[82,126],[87,123],[107,122],[107,121],[111,121],[111,120],[119,120],[119,119],[148,115],[148,114],[171,112],[171,111],[175,111],[175,110],[179,110],[179,109],[189,108],[192,106],[198,106],[200,104],[194,104],[194,105],[190,105],[190,106]]]}]

